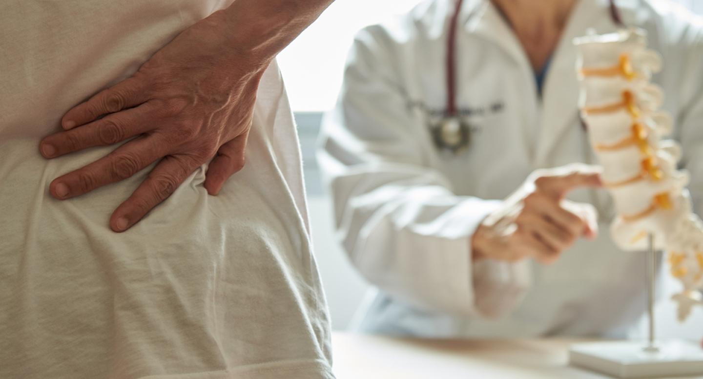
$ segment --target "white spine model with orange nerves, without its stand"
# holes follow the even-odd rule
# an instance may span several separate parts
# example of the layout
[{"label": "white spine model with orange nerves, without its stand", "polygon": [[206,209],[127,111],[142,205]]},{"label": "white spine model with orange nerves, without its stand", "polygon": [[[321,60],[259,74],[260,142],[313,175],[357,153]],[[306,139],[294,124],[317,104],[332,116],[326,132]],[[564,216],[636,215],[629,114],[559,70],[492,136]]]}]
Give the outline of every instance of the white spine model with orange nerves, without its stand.
[{"label": "white spine model with orange nerves, without its stand", "polygon": [[676,170],[681,146],[662,140],[671,116],[659,110],[662,89],[650,83],[662,58],[647,49],[639,29],[583,36],[574,44],[581,117],[617,211],[612,238],[632,251],[645,250],[653,235],[683,284],[673,296],[683,321],[692,305],[703,305],[703,223],[691,211],[688,173]]}]

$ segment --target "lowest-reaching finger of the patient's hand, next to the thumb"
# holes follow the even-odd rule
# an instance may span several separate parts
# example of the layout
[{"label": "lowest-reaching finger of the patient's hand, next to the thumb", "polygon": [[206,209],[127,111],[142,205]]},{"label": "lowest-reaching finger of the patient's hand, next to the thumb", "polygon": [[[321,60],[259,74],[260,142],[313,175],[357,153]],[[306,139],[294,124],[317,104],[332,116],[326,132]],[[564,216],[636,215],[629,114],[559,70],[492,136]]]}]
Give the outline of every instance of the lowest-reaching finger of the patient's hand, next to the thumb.
[{"label": "lowest-reaching finger of the patient's hand, next to the thumb", "polygon": [[117,207],[110,217],[110,228],[124,232],[176,191],[198,164],[184,156],[167,156],[149,173],[139,187]]}]

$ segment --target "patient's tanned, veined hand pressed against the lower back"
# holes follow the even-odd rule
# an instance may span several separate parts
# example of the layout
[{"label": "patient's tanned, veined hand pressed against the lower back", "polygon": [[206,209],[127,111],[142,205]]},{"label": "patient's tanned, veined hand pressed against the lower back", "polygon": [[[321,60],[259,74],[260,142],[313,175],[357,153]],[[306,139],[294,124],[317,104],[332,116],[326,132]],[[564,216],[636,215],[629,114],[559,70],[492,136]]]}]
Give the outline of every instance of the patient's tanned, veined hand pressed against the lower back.
[{"label": "patient's tanned, veined hand pressed against the lower back", "polygon": [[112,213],[110,227],[122,232],[213,157],[205,188],[217,194],[244,165],[259,80],[271,62],[236,45],[224,13],[213,13],[176,36],[132,77],[70,109],[61,122],[65,131],[41,140],[40,152],[48,159],[132,139],[53,180],[53,197],[77,197],[158,161]]}]

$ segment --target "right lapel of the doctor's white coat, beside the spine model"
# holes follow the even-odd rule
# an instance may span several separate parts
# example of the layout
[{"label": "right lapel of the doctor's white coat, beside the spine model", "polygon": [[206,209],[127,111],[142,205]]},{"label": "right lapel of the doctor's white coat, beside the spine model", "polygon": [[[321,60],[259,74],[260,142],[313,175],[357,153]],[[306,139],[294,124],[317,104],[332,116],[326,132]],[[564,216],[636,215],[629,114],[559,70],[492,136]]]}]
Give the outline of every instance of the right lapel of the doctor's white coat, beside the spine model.
[{"label": "right lapel of the doctor's white coat, beside the spine model", "polygon": [[553,157],[550,155],[555,147],[565,138],[569,128],[579,127],[579,85],[573,39],[585,35],[589,28],[598,33],[617,29],[602,1],[580,0],[576,4],[553,54],[543,87],[543,121],[538,131],[537,167],[551,166]]}]

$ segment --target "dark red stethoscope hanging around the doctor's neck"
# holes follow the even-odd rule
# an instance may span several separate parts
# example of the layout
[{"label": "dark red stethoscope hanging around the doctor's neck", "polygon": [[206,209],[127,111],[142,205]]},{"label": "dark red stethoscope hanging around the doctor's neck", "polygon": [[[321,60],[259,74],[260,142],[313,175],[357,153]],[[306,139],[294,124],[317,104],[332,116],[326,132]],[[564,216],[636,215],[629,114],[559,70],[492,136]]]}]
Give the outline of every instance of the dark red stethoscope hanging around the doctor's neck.
[{"label": "dark red stethoscope hanging around the doctor's neck", "polygon": [[[461,117],[456,105],[456,34],[462,4],[463,0],[456,0],[446,39],[446,111],[439,121],[430,122],[430,131],[432,131],[432,138],[437,149],[455,155],[463,152],[471,142],[471,126]],[[610,0],[610,18],[615,25],[624,26],[614,0]],[[579,121],[583,131],[586,131],[586,123],[580,112]],[[584,155],[588,155],[588,161],[591,161],[590,154],[588,154],[590,150],[584,149],[584,151],[586,152]]]}]

